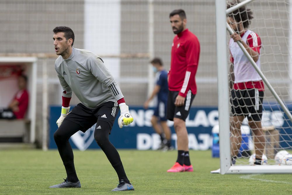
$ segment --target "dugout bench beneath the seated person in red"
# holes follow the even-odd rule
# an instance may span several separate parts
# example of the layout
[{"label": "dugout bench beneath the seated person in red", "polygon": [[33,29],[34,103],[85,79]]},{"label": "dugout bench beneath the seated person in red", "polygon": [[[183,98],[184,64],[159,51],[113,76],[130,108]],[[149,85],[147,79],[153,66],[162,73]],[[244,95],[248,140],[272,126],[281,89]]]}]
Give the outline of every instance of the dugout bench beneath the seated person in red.
[{"label": "dugout bench beneath the seated person in red", "polygon": [[24,142],[29,143],[30,120],[13,119],[0,120],[0,143]]}]

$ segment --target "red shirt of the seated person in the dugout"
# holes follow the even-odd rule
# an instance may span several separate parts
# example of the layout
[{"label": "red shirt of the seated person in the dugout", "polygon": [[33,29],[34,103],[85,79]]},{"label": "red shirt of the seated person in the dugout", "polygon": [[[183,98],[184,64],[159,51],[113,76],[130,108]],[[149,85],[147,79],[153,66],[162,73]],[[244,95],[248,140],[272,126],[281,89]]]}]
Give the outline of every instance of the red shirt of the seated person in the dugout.
[{"label": "red shirt of the seated person in the dugout", "polygon": [[28,92],[26,89],[22,89],[20,91],[18,91],[15,96],[14,99],[18,101],[18,108],[19,111],[18,112],[13,112],[14,115],[16,116],[16,118],[20,119],[20,118],[24,118],[25,112],[27,110],[28,107]]}]

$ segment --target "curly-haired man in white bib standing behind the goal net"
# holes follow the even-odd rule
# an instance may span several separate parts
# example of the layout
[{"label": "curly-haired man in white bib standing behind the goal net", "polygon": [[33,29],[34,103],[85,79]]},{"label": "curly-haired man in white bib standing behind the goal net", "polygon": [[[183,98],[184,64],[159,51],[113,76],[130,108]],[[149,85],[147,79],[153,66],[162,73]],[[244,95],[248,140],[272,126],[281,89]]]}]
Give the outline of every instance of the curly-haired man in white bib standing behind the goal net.
[{"label": "curly-haired man in white bib standing behind the goal net", "polygon": [[[233,1],[227,6],[232,7],[240,3]],[[263,80],[256,72],[255,68],[240,49],[237,41],[240,41],[245,47],[253,61],[260,68],[260,49],[261,40],[258,34],[247,30],[250,20],[253,19],[250,9],[244,6],[228,14],[227,23],[235,31],[231,35],[229,49],[233,63],[234,85],[231,91],[230,102],[232,104],[232,123],[231,123],[231,142],[232,142],[232,164],[236,162],[236,157],[241,144],[241,123],[245,117],[248,118],[250,126],[255,137],[256,165],[262,164],[262,155],[265,148],[265,137],[261,125],[263,111],[264,84]],[[232,67],[231,67],[232,68]],[[232,73],[232,71],[230,71]]]}]

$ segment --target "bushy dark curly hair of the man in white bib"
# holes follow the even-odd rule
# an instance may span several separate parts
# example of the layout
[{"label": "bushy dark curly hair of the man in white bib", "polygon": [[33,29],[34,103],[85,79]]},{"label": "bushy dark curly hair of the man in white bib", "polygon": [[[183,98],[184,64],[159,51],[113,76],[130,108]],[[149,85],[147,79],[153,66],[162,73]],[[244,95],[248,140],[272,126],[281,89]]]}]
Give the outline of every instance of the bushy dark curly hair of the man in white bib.
[{"label": "bushy dark curly hair of the man in white bib", "polygon": [[[227,9],[231,8],[237,4],[239,4],[239,0],[233,0],[230,3],[227,2]],[[253,12],[251,9],[247,9],[245,6],[242,6],[236,10],[234,10],[232,13],[228,14],[228,17],[234,17],[234,20],[239,23],[242,21],[243,27],[247,28],[250,25],[250,20],[253,19]]]}]

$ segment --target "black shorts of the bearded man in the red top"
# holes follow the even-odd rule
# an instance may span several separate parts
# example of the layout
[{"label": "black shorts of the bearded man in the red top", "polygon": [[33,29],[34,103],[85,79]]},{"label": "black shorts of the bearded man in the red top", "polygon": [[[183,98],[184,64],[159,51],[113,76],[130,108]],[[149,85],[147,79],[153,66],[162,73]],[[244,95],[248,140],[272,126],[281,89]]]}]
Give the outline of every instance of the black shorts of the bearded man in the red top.
[{"label": "black shorts of the bearded man in the red top", "polygon": [[180,118],[186,120],[190,113],[190,107],[195,98],[195,94],[192,94],[191,90],[187,92],[187,97],[185,98],[185,104],[183,106],[177,107],[174,105],[175,99],[178,96],[178,92],[169,91],[167,100],[167,119],[172,120],[173,118]]}]

